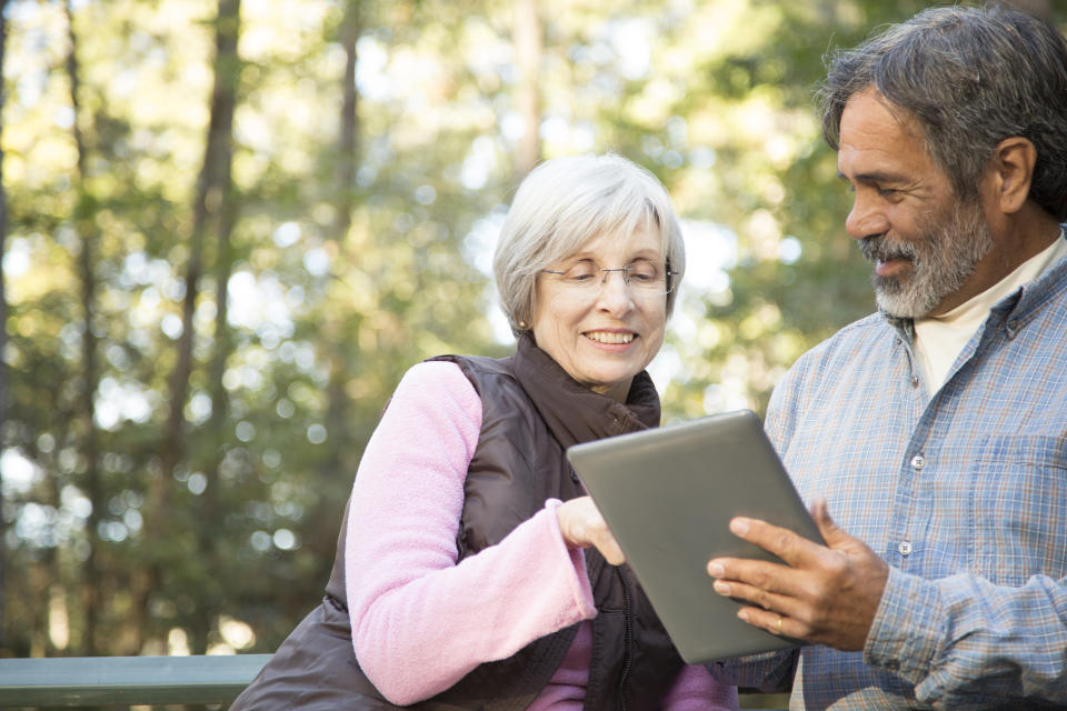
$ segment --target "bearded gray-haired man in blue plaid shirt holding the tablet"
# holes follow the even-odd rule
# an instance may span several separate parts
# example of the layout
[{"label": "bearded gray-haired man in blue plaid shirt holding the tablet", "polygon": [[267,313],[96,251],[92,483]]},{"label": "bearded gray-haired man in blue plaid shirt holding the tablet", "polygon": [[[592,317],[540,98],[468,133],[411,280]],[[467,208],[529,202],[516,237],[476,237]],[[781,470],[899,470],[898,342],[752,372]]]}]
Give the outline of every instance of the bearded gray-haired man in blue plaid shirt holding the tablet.
[{"label": "bearded gray-haired man in blue plaid shirt holding the tablet", "polygon": [[820,96],[879,313],[767,413],[827,547],[735,519],[788,564],[708,563],[745,621],[812,644],[710,669],[797,709],[1064,707],[1067,43],[927,10],[834,57]]}]

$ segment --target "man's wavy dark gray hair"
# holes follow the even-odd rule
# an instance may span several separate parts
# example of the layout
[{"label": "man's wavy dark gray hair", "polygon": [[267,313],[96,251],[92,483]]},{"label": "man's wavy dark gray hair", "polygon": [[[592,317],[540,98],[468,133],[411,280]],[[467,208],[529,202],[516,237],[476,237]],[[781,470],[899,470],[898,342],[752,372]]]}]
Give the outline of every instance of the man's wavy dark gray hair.
[{"label": "man's wavy dark gray hair", "polygon": [[818,99],[835,150],[845,104],[868,87],[918,120],[960,199],[977,197],[1000,141],[1028,139],[1029,198],[1067,219],[1067,40],[1048,22],[998,6],[933,8],[831,53]]}]

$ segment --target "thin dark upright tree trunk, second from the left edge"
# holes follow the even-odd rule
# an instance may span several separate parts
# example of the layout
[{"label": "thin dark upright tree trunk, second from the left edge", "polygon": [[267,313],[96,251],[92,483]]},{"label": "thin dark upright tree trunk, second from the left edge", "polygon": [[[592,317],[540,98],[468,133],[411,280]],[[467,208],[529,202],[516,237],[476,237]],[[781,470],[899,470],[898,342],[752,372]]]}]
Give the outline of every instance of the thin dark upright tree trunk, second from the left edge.
[{"label": "thin dark upright tree trunk, second from the left edge", "polygon": [[93,204],[89,194],[89,188],[86,183],[86,161],[87,149],[86,141],[80,127],[80,103],[78,101],[78,90],[80,87],[80,77],[78,68],[78,37],[74,33],[74,12],[72,0],[67,2],[67,30],[70,40],[69,53],[67,56],[67,76],[70,84],[70,106],[73,110],[73,134],[74,148],[78,152],[76,190],[78,202],[74,207],[74,231],[78,234],[78,241],[81,246],[81,253],[78,256],[78,274],[81,280],[81,304],[82,304],[82,334],[81,334],[81,407],[80,417],[82,430],[81,453],[86,461],[84,490],[86,495],[92,503],[92,510],[86,520],[86,538],[89,540],[89,555],[82,564],[82,599],[84,604],[84,630],[82,633],[82,649],[86,654],[93,655],[98,652],[96,638],[97,624],[100,612],[100,570],[99,570],[99,549],[100,540],[98,535],[98,525],[100,523],[100,513],[103,510],[103,492],[100,484],[100,448],[97,437],[96,405],[94,394],[97,391],[97,380],[99,378],[97,369],[97,334],[93,329],[93,321],[97,317],[97,279],[93,272],[96,263],[96,248],[99,241],[94,221]]}]

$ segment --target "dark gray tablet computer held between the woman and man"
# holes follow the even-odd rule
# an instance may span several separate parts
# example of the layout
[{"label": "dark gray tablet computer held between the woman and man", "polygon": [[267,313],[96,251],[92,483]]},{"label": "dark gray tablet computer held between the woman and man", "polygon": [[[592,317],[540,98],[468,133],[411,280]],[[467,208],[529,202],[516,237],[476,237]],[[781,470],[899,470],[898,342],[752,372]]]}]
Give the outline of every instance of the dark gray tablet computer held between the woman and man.
[{"label": "dark gray tablet computer held between the woman and man", "polygon": [[730,533],[736,515],[822,543],[756,413],[576,444],[567,458],[682,659],[705,663],[802,644],[739,620],[742,603],[715,592],[707,573],[720,555],[780,562]]}]

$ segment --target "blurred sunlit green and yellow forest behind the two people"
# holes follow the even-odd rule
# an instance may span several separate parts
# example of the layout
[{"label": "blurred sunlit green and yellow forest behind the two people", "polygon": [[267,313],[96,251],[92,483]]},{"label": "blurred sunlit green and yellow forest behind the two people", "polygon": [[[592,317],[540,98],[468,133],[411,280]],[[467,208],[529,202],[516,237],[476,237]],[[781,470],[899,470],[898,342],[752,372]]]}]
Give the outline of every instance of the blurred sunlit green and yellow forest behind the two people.
[{"label": "blurred sunlit green and yellow forest behind the two people", "polygon": [[821,58],[927,3],[0,4],[0,655],[27,657],[272,651],[405,369],[510,350],[488,264],[544,158],[616,151],[675,199],[666,420],[761,412],[872,310]]}]

